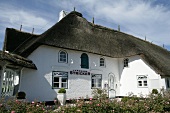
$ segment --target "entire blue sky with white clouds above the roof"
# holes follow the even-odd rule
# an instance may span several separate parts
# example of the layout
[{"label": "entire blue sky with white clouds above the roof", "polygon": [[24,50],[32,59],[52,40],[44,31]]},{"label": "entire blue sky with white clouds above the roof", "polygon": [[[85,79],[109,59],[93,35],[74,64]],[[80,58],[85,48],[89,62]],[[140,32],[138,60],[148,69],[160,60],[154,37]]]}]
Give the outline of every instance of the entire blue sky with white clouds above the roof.
[{"label": "entire blue sky with white clouds above the roof", "polygon": [[88,21],[117,29],[170,50],[170,0],[0,0],[0,49],[5,29],[41,34],[59,18],[76,11]]}]

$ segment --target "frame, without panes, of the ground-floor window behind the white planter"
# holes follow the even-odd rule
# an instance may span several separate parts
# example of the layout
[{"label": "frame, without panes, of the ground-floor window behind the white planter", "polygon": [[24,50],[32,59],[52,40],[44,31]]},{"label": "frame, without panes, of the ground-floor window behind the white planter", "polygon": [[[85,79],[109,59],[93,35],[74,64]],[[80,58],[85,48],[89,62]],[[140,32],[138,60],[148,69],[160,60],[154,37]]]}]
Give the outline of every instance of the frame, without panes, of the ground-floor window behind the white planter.
[{"label": "frame, without panes, of the ground-floor window behind the white planter", "polygon": [[[54,73],[64,73],[67,75],[54,75]],[[54,82],[54,78],[59,78],[59,82]],[[66,82],[62,82],[62,78],[66,78]],[[54,84],[59,83],[59,87],[55,87]],[[66,87],[62,87],[62,83],[66,83]],[[52,89],[60,89],[60,88],[65,88],[68,89],[68,72],[66,71],[52,71]]]}]

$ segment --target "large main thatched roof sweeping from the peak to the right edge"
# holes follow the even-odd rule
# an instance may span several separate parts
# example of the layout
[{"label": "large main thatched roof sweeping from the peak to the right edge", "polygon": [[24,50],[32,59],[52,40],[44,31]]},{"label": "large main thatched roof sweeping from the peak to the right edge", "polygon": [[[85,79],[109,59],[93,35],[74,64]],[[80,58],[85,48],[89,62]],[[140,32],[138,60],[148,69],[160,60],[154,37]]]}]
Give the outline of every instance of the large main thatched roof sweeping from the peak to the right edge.
[{"label": "large main thatched roof sweeping from the peak to the right edge", "polygon": [[22,44],[15,52],[26,57],[39,45],[90,52],[112,58],[141,55],[157,73],[170,76],[170,52],[132,35],[92,24],[83,18],[81,13],[75,11],[36,39]]}]

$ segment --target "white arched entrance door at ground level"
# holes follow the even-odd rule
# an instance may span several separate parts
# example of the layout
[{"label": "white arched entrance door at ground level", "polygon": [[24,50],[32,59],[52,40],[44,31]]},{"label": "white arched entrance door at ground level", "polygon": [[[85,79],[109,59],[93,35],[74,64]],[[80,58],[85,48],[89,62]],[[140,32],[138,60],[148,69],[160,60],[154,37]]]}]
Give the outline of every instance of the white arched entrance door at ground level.
[{"label": "white arched entrance door at ground level", "polygon": [[109,74],[109,78],[108,78],[108,83],[109,83],[109,89],[108,89],[108,93],[109,93],[109,98],[115,98],[116,96],[116,91],[115,91],[115,77],[113,74]]}]

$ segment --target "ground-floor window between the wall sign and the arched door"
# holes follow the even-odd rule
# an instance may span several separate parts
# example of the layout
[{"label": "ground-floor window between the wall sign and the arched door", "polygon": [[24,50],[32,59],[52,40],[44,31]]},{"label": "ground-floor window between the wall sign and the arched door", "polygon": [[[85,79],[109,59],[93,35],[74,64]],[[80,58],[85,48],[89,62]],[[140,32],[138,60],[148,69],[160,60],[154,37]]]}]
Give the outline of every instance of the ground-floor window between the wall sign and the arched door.
[{"label": "ground-floor window between the wall sign and the arched door", "polygon": [[101,74],[91,74],[91,85],[92,88],[101,88],[102,75]]}]

